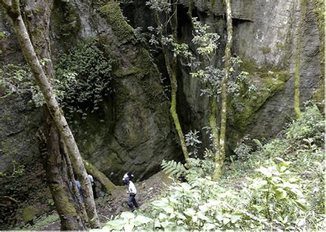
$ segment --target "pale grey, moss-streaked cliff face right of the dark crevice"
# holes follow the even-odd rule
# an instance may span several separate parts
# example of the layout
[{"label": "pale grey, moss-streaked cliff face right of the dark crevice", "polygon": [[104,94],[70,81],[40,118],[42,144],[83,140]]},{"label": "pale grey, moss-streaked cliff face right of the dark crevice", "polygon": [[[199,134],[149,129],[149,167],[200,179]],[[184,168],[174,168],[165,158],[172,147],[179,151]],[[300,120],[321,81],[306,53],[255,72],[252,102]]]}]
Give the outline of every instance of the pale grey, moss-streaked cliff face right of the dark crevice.
[{"label": "pale grey, moss-streaked cliff face right of the dark crevice", "polygon": [[[180,1],[180,40],[189,42],[192,32],[186,12],[193,3],[193,16],[210,25],[213,32],[221,35],[216,66],[222,67],[224,56],[226,22],[224,1]],[[270,138],[276,135],[294,117],[294,71],[296,69],[297,31],[302,1],[232,1],[234,40],[232,53],[243,60],[241,69],[248,71],[258,89],[250,96],[231,99],[228,117],[228,148],[231,152],[243,135]],[[125,8],[131,8],[124,1]],[[318,24],[316,4],[307,1],[301,41],[301,106],[311,100],[314,93],[323,90],[323,30]],[[130,14],[130,13],[129,13]],[[135,11],[129,17],[134,27],[146,27]],[[322,14],[322,13],[321,13]],[[318,29],[319,26],[319,29]],[[321,36],[320,36],[321,35]],[[208,125],[208,98],[200,96],[202,84],[180,68],[179,111],[184,131],[201,130]],[[321,81],[320,81],[321,80]],[[323,92],[323,91],[322,91]],[[320,99],[323,99],[321,97]],[[240,107],[241,106],[241,107]],[[204,144],[207,136],[202,133]]]}]

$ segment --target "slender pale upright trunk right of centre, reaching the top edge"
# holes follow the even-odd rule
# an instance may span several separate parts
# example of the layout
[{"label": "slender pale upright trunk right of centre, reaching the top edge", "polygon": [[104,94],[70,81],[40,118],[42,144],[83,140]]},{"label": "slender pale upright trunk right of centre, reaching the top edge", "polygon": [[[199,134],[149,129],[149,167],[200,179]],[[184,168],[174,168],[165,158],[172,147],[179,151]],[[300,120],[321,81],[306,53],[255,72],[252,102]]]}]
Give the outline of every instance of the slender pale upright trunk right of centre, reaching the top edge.
[{"label": "slender pale upright trunk right of centre, reaching the top edge", "polygon": [[224,55],[224,77],[221,83],[221,129],[219,131],[219,152],[215,154],[215,170],[213,180],[217,180],[221,176],[221,170],[224,165],[226,156],[226,109],[228,102],[228,94],[226,93],[226,85],[230,75],[231,67],[231,47],[232,47],[232,10],[231,0],[226,2],[226,50]]}]

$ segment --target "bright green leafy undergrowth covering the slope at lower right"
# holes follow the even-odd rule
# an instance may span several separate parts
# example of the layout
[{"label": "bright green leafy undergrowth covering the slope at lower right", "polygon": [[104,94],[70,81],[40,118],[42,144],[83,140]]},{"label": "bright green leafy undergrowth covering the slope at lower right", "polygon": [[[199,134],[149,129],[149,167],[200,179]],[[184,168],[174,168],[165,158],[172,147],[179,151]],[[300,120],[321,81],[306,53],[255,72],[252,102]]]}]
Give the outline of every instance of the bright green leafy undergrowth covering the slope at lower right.
[{"label": "bright green leafy undergrowth covering the slope at lower right", "polygon": [[175,179],[160,198],[122,213],[103,230],[323,230],[324,126],[318,108],[307,106],[277,138],[254,139],[256,150],[244,138],[218,182],[203,165],[207,159],[193,159],[188,171],[165,161],[166,172],[185,174],[186,181]]}]

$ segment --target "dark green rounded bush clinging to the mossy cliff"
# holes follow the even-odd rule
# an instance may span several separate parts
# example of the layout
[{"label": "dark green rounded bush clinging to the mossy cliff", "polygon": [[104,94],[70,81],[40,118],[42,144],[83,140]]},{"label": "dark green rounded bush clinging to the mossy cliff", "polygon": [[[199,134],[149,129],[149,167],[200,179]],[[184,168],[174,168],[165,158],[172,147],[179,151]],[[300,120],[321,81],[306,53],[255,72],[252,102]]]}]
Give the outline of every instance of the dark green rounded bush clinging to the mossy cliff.
[{"label": "dark green rounded bush clinging to the mossy cliff", "polygon": [[56,93],[67,113],[97,111],[110,89],[113,58],[97,40],[78,43],[56,63]]}]

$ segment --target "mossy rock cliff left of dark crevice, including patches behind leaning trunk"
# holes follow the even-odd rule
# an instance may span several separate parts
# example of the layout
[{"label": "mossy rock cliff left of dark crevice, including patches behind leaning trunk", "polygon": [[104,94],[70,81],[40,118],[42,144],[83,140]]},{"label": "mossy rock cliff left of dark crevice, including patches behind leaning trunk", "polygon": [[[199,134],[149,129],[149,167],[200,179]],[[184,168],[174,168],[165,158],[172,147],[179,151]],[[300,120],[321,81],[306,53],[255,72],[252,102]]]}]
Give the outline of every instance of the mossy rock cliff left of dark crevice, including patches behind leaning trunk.
[{"label": "mossy rock cliff left of dark crevice, including patches behind leaning trunk", "polygon": [[[1,25],[5,24],[8,22]],[[72,119],[76,121],[72,128],[83,156],[118,184],[124,172],[133,172],[136,178],[142,179],[160,170],[162,159],[179,159],[180,152],[169,116],[169,99],[161,85],[160,73],[149,51],[140,44],[133,28],[124,20],[118,3],[90,5],[85,1],[71,4],[56,1],[50,27],[54,60],[58,54],[74,46],[77,40],[89,38],[100,39],[116,60],[111,73],[112,93],[102,102],[100,110],[87,113],[86,120],[78,115]],[[1,41],[2,47],[10,47],[11,39],[14,40],[12,32],[10,38]],[[6,54],[5,64],[11,62],[8,58],[11,56]],[[32,106],[21,110],[22,107],[17,106],[24,104],[20,98],[14,94],[10,100],[1,100],[1,130],[5,130],[1,134],[1,159],[5,160],[1,163],[2,172],[10,167],[5,145],[17,141],[13,136],[18,134],[15,130],[21,132],[17,136],[22,144],[15,146],[21,156],[12,158],[28,162],[39,155],[35,134],[41,125],[42,111]],[[6,121],[10,113],[8,108],[15,109],[12,113],[17,120],[22,111],[20,124],[16,127]],[[36,121],[28,120],[30,117]],[[28,138],[25,136],[27,133]],[[34,155],[26,159],[32,152]]]}]

